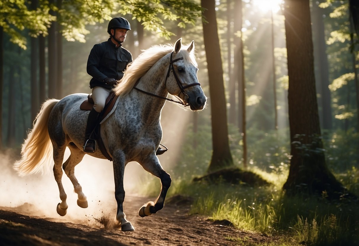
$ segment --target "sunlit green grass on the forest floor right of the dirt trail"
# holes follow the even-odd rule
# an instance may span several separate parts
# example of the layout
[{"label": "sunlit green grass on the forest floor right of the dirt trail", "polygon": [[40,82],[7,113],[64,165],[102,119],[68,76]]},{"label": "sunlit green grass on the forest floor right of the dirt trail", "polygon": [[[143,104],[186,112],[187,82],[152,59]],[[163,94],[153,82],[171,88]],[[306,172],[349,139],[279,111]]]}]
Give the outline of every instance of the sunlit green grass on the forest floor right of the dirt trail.
[{"label": "sunlit green grass on the forest floor right of the dirt trail", "polygon": [[[253,188],[241,184],[208,184],[205,181],[192,183],[179,177],[172,181],[168,197],[181,194],[194,198],[191,214],[212,220],[226,219],[235,227],[248,232],[280,236],[279,241],[265,244],[268,246],[298,243],[308,246],[359,244],[357,202],[328,201],[325,195],[319,198],[304,195],[288,198],[281,190],[288,170],[273,169],[271,173],[257,168],[251,170],[272,185]],[[354,174],[356,171],[353,169]],[[347,176],[352,177],[352,172]],[[158,195],[160,182],[157,178],[146,180],[145,183],[141,186],[148,187],[144,194]],[[354,187],[353,184],[351,186]],[[244,243],[243,238],[228,240],[239,245]],[[246,245],[252,244],[248,242]]]}]

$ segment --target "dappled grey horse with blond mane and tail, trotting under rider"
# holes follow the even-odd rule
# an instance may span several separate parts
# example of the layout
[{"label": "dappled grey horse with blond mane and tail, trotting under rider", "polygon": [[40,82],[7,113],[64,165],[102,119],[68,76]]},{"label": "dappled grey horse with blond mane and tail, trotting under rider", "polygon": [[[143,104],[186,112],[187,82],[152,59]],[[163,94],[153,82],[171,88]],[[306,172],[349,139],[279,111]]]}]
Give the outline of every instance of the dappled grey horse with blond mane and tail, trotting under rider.
[{"label": "dappled grey horse with blond mane and tail, trotting under rider", "polygon": [[[181,40],[178,39],[174,45],[154,45],[143,50],[126,68],[121,82],[113,89],[118,95],[113,112],[101,122],[101,137],[113,162],[117,202],[115,222],[122,231],[135,230],[123,212],[123,175],[128,162],[138,162],[161,182],[158,198],[145,203],[139,209],[139,216],[149,216],[164,207],[172,180],[163,170],[155,152],[162,139],[160,117],[165,101],[189,106],[193,111],[202,110],[206,105],[207,98],[197,78],[194,41],[182,46]],[[167,98],[168,94],[179,101]],[[60,216],[65,216],[68,208],[61,182],[62,169],[74,186],[79,207],[88,207],[87,197],[74,173],[75,166],[86,154],[83,152],[83,139],[89,111],[80,110],[80,104],[87,96],[77,93],[61,100],[46,100],[22,145],[22,158],[14,164],[14,169],[23,176],[49,170],[54,163],[53,175],[61,199],[56,211]],[[70,149],[70,156],[62,164],[66,147]],[[87,154],[108,159],[98,148],[94,153]]]}]

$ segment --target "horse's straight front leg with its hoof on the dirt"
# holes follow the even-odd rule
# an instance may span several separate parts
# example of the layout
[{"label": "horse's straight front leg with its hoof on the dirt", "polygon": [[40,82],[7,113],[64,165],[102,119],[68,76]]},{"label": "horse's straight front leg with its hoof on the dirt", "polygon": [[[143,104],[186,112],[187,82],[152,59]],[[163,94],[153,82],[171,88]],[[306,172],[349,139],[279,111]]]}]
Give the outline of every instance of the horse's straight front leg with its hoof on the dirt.
[{"label": "horse's straight front leg with its hoof on the dirt", "polygon": [[121,226],[122,231],[134,231],[131,222],[126,220],[123,213],[123,201],[125,200],[125,189],[123,189],[123,174],[125,172],[125,155],[122,151],[117,151],[113,155],[113,176],[115,178],[115,198],[117,202],[116,221]]}]

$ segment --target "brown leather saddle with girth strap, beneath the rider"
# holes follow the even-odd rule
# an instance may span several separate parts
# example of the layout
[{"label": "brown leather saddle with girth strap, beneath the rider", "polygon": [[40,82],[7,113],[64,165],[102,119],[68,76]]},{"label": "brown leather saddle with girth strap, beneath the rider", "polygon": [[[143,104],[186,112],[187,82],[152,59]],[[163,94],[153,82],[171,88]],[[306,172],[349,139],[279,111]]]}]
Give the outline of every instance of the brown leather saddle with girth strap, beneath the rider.
[{"label": "brown leather saddle with girth strap, beneath the rider", "polygon": [[[101,138],[101,131],[100,131],[101,124],[100,123],[111,112],[111,110],[113,109],[113,106],[116,103],[117,98],[118,98],[118,95],[115,95],[115,92],[111,91],[106,99],[105,107],[103,108],[103,110],[99,116],[97,126],[95,127],[95,130],[93,131],[92,136],[91,136],[92,139],[95,139],[97,141],[97,145],[98,145],[99,149],[101,150],[102,155],[104,155],[109,161],[112,161],[112,157],[109,155],[109,153],[107,152],[107,150],[103,144],[103,141]],[[81,103],[80,109],[81,110],[91,110],[93,108],[93,105],[94,105],[94,101],[92,99],[92,94],[89,94],[87,96],[87,99]]]}]

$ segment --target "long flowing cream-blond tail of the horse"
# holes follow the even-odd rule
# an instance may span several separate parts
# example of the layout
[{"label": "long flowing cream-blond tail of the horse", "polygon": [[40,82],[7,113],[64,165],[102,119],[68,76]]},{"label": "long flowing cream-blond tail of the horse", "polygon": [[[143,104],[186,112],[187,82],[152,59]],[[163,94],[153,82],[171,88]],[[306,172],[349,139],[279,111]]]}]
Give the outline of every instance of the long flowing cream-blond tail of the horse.
[{"label": "long flowing cream-blond tail of the horse", "polygon": [[49,168],[52,156],[52,144],[47,124],[52,108],[59,100],[50,99],[42,104],[34,120],[33,128],[21,148],[22,159],[15,162],[14,169],[20,176],[43,171]]}]

